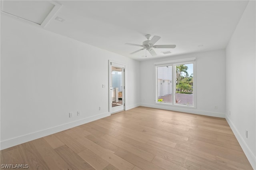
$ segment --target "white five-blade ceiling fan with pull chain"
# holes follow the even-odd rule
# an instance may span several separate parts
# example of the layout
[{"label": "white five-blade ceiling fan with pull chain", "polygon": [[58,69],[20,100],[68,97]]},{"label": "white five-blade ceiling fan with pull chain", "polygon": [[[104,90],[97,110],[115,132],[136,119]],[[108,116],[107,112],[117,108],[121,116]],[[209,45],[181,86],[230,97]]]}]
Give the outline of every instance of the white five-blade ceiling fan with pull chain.
[{"label": "white five-blade ceiling fan with pull chain", "polygon": [[125,43],[126,45],[134,45],[134,46],[140,46],[140,47],[143,47],[142,49],[139,49],[137,51],[134,51],[130,54],[134,54],[134,53],[137,53],[139,51],[142,51],[143,49],[146,49],[149,51],[149,53],[154,57],[156,56],[156,52],[154,51],[153,48],[175,48],[176,45],[154,45],[161,37],[159,36],[154,36],[153,38],[150,39],[151,35],[150,34],[147,34],[145,36],[148,40],[142,42],[142,45],[139,45],[139,44],[134,44],[134,43]]}]

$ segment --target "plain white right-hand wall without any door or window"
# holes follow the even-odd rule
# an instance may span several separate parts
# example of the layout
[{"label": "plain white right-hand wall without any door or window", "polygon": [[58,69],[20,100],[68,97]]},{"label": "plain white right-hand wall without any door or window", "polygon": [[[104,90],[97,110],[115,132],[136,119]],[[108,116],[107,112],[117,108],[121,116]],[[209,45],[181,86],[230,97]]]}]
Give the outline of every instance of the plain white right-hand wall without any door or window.
[{"label": "plain white right-hand wall without any door or window", "polygon": [[[256,170],[255,5],[255,1],[248,2],[226,48],[226,119],[254,170]],[[248,130],[248,138],[245,136],[246,130]]]}]

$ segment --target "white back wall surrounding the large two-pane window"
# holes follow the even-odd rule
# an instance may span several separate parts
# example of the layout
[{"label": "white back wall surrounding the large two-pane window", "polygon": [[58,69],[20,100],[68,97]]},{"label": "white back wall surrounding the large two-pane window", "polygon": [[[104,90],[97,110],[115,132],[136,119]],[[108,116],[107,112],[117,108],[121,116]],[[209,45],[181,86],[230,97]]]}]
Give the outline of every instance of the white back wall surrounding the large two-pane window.
[{"label": "white back wall surrounding the large two-pane window", "polygon": [[[155,103],[155,66],[160,61],[196,57],[196,109]],[[149,76],[151,75],[151,76]],[[225,117],[225,50],[177,55],[140,62],[141,105],[159,109]],[[218,109],[215,109],[218,106]]]}]

